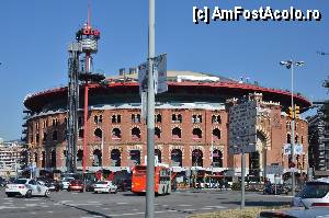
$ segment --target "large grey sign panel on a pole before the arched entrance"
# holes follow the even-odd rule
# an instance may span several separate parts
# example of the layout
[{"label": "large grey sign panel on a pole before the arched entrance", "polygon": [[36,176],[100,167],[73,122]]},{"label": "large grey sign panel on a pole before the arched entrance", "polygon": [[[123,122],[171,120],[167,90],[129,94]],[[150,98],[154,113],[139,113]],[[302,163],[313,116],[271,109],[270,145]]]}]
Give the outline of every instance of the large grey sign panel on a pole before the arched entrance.
[{"label": "large grey sign panel on a pole before the arched entrance", "polygon": [[229,108],[228,152],[231,154],[256,151],[257,102],[249,101]]}]

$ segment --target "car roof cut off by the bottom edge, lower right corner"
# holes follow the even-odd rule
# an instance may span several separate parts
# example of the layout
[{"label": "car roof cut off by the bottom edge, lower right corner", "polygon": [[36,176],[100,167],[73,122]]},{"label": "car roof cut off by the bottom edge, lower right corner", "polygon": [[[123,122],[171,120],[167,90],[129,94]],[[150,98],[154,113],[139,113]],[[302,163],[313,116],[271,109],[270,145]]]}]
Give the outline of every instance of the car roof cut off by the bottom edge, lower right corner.
[{"label": "car roof cut off by the bottom edge, lower right corner", "polygon": [[327,208],[287,209],[261,211],[258,218],[325,218],[329,216]]}]

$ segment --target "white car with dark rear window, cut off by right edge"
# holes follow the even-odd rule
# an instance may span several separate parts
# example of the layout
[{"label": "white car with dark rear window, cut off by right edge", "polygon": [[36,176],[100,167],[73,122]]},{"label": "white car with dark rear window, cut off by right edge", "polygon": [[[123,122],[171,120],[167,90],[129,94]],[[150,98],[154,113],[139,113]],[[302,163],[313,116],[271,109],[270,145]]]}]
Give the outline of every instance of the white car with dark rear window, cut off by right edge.
[{"label": "white car with dark rear window, cut off by right edge", "polygon": [[307,182],[304,188],[295,195],[292,205],[295,207],[328,207],[329,177]]}]

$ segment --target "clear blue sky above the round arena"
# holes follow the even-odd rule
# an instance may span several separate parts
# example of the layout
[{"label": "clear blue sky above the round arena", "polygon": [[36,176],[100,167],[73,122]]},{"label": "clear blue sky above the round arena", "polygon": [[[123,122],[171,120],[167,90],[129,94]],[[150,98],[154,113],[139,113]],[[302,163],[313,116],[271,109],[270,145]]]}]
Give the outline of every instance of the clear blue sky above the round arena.
[{"label": "clear blue sky above the round arena", "polygon": [[[0,2],[0,138],[21,137],[27,93],[67,83],[67,46],[87,20],[87,0],[2,0]],[[196,5],[230,9],[318,9],[320,22],[192,22]],[[101,30],[94,69],[106,76],[135,67],[147,57],[148,1],[91,0],[92,25]],[[310,100],[328,99],[329,3],[321,0],[214,1],[157,0],[156,53],[168,54],[168,69],[250,78],[261,85],[291,89],[280,60],[294,58],[295,89]]]}]

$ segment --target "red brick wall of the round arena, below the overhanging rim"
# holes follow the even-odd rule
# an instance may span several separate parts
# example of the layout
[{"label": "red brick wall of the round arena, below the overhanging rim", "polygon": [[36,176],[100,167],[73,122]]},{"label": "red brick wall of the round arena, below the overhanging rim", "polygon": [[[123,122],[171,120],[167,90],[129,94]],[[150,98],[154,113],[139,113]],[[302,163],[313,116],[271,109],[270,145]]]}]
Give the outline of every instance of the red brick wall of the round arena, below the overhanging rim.
[{"label": "red brick wall of the round arena, below the overhanging rim", "polygon": [[[265,139],[265,147],[259,148],[260,167],[262,168],[263,149],[266,152],[266,164],[280,163],[287,168],[287,157],[283,156],[283,145],[287,142],[287,134],[291,133],[290,121],[282,115],[282,106],[276,104],[262,104],[269,108],[270,113],[258,117],[258,131]],[[93,151],[99,149],[102,153],[102,167],[110,168],[111,151],[118,149],[121,152],[121,167],[132,167],[131,150],[140,151],[140,163],[144,163],[146,156],[146,123],[145,119],[138,118],[132,121],[132,115],[140,115],[139,108],[120,108],[120,110],[92,110],[88,118],[88,147],[87,147],[87,169],[92,167]],[[156,127],[161,130],[160,138],[156,139],[156,149],[161,151],[161,162],[172,164],[172,150],[179,149],[182,152],[182,167],[190,168],[192,163],[192,151],[200,149],[202,151],[202,165],[209,168],[212,164],[211,150],[212,139],[214,150],[219,150],[223,154],[223,165],[220,168],[240,168],[240,157],[228,154],[228,113],[225,108],[204,110],[204,108],[158,108],[156,115],[161,115],[161,122],[156,122]],[[112,123],[112,116],[120,115],[120,123]],[[181,115],[182,122],[172,121],[173,115]],[[193,115],[195,115],[193,117]],[[218,116],[219,121],[214,121],[213,116]],[[80,114],[82,116],[82,114]],[[95,117],[98,116],[98,117]],[[31,118],[29,121],[29,144],[32,149],[32,160],[36,161],[38,168],[56,168],[65,167],[64,150],[66,150],[66,113],[57,113],[54,115],[44,115]],[[192,119],[200,117],[195,123]],[[97,118],[97,123],[95,123]],[[102,121],[100,121],[100,118]],[[82,118],[83,121],[83,118]],[[136,123],[135,123],[136,122]],[[81,128],[83,124],[79,125]],[[140,129],[140,139],[132,136],[132,129],[137,127]],[[173,128],[181,129],[181,138],[172,135]],[[102,137],[95,137],[97,128],[102,130]],[[120,136],[113,136],[113,129],[120,129]],[[193,135],[193,129],[196,129]],[[213,137],[213,129],[218,128],[220,138]],[[117,130],[116,129],[116,130]],[[197,133],[202,133],[202,137],[197,138]],[[55,131],[55,134],[54,134]],[[57,131],[57,134],[56,134]],[[47,134],[44,140],[44,133]],[[218,133],[218,131],[217,131]],[[307,169],[307,138],[308,127],[303,119],[296,122],[297,141],[304,145],[304,154],[298,159],[298,168]],[[57,139],[56,139],[57,135]],[[302,141],[303,140],[303,141]],[[78,150],[82,149],[82,138],[79,138]],[[43,158],[45,152],[45,160]],[[52,151],[56,152],[56,161]],[[35,157],[35,153],[37,157]],[[200,159],[200,157],[197,157]],[[53,160],[53,163],[52,163]],[[247,156],[247,168],[249,156]],[[195,165],[196,163],[194,163]],[[81,169],[81,168],[80,168]],[[92,170],[92,169],[90,169]]]}]

